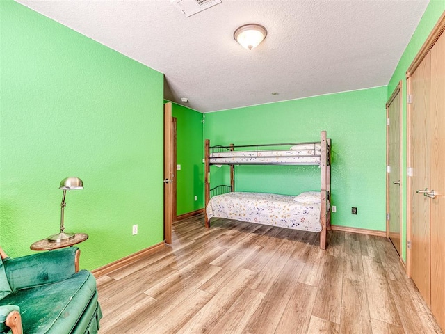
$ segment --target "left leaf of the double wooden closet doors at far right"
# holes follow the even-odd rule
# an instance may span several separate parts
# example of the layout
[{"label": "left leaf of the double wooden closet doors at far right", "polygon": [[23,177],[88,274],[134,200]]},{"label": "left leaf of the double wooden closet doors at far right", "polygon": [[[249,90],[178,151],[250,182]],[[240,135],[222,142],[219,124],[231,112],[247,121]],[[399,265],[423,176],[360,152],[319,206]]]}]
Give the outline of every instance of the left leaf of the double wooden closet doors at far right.
[{"label": "left leaf of the double wooden closet doors at far right", "polygon": [[430,186],[430,72],[427,56],[410,77],[410,228],[411,277],[430,305],[430,200],[423,195]]}]

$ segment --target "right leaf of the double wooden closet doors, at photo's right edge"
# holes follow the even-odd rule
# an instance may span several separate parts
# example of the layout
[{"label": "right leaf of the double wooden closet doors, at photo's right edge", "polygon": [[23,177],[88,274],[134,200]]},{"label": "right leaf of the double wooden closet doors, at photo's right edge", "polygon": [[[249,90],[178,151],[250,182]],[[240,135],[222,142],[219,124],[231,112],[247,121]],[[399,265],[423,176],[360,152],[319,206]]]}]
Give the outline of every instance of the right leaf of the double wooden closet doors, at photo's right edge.
[{"label": "right leaf of the double wooden closet doors, at photo's right edge", "polygon": [[445,330],[445,34],[431,49],[431,310]]}]

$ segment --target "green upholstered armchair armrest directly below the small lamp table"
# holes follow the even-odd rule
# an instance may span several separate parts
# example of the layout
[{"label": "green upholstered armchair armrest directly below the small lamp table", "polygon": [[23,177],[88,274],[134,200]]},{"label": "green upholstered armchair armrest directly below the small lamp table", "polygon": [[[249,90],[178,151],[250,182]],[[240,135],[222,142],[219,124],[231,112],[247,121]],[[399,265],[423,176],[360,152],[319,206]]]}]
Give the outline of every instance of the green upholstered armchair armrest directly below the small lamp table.
[{"label": "green upholstered armchair armrest directly below the small lamp table", "polygon": [[79,271],[77,247],[3,260],[6,276],[13,291],[65,280]]}]

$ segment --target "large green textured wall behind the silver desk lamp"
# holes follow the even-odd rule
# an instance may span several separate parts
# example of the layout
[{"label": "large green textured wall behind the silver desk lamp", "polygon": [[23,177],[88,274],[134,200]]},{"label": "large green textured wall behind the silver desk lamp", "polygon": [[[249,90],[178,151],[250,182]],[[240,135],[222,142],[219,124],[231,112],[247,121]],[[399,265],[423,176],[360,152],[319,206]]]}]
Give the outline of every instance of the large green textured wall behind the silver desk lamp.
[{"label": "large green textured wall behind the silver desk lamp", "polygon": [[[163,74],[0,1],[0,244],[11,256],[58,232],[86,232],[94,269],[163,241]],[[131,235],[138,224],[139,233]]]}]

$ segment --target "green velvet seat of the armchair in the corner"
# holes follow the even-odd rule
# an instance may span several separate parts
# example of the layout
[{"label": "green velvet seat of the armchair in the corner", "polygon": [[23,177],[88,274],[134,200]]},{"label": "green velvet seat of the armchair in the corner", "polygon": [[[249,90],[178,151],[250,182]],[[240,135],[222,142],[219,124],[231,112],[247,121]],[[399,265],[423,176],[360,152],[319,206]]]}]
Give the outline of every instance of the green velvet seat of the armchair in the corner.
[{"label": "green velvet seat of the armchair in the corner", "polygon": [[96,280],[81,270],[65,280],[20,289],[0,303],[19,306],[24,333],[72,333],[88,305],[98,308]]}]

